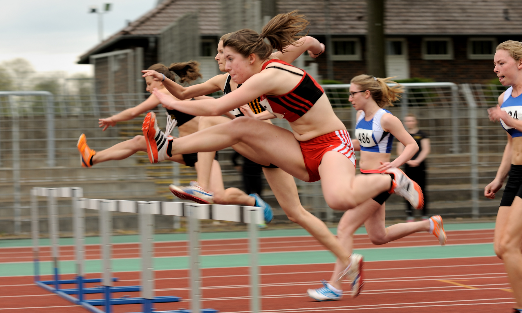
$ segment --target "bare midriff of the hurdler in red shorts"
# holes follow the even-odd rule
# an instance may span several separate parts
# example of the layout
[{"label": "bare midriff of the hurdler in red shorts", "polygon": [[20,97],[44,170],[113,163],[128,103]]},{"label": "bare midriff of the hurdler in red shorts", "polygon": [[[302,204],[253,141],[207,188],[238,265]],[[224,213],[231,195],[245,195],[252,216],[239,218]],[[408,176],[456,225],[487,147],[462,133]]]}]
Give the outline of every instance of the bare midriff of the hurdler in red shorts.
[{"label": "bare midriff of the hurdler in red shorts", "polygon": [[306,141],[315,137],[332,133],[336,130],[346,130],[345,124],[335,115],[326,94],[323,94],[312,109],[290,123],[295,139]]}]

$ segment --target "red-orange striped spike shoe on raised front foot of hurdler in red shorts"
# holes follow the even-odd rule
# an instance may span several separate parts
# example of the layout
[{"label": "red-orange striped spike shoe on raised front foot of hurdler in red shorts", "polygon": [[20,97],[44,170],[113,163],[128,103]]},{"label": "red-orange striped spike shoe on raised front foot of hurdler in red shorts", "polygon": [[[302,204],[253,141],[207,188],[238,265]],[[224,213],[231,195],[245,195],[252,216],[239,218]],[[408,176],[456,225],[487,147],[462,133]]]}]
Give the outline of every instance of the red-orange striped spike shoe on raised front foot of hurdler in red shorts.
[{"label": "red-orange striped spike shoe on raised front foot of hurdler in red shorts", "polygon": [[[172,127],[173,128],[173,127]],[[147,142],[147,154],[149,155],[150,163],[158,163],[168,158],[167,147],[172,147],[172,140],[174,137],[169,136],[170,132],[165,135],[158,127],[156,113],[149,112],[143,120],[141,127],[145,141]],[[172,129],[171,129],[172,131]]]}]

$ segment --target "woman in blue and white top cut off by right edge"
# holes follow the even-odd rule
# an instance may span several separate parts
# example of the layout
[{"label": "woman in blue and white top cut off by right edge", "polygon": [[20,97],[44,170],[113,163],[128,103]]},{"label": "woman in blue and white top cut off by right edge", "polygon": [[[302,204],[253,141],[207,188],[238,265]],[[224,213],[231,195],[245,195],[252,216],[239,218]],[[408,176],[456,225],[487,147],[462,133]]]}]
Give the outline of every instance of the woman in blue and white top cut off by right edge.
[{"label": "woman in blue and white top cut off by right edge", "polygon": [[507,131],[507,144],[495,179],[484,196],[495,198],[506,177],[506,187],[496,215],[493,247],[503,260],[515,296],[514,312],[522,312],[522,43],[508,40],[496,47],[494,71],[504,86],[499,106],[488,110],[492,121]]}]

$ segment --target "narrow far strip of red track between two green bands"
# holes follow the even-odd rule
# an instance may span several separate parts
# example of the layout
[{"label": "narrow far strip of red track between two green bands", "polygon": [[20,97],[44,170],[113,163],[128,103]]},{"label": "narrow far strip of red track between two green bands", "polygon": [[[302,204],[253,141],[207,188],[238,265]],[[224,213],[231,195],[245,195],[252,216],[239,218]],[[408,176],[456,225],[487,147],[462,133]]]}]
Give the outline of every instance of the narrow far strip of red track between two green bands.
[{"label": "narrow far strip of red track between two green bands", "polygon": [[[493,230],[449,231],[448,243],[455,244],[479,244],[492,243]],[[436,246],[438,240],[428,233],[416,233],[395,240],[382,246],[375,246],[367,235],[356,235],[354,248],[377,247],[408,247],[408,246]],[[0,248],[1,262],[31,262],[33,254],[31,247]],[[201,240],[202,255],[240,254],[248,253],[248,239],[216,239]],[[313,237],[268,237],[260,239],[260,252],[283,252],[303,250],[325,250],[325,247]],[[139,258],[139,244],[113,244],[113,258]],[[155,257],[186,256],[187,242],[158,242],[155,243]],[[100,259],[100,246],[86,246],[87,259]],[[51,261],[50,247],[41,247],[40,260]],[[74,260],[74,247],[60,247],[60,260]]]}]

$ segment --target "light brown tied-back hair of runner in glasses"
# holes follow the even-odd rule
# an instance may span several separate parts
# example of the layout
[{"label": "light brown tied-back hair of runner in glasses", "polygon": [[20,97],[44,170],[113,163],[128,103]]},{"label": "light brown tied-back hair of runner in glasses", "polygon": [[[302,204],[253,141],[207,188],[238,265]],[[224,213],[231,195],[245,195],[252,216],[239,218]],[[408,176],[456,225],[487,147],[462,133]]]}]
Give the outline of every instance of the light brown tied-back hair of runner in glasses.
[{"label": "light brown tied-back hair of runner in glasses", "polygon": [[[404,92],[402,86],[392,80],[394,77],[378,78],[370,75],[362,74],[355,76],[350,83],[355,83],[362,90],[370,90],[372,98],[377,102],[379,107],[392,105],[394,101],[400,98],[400,93]],[[389,87],[388,83],[396,83],[397,85]]]}]

